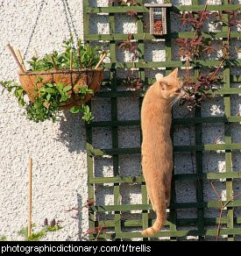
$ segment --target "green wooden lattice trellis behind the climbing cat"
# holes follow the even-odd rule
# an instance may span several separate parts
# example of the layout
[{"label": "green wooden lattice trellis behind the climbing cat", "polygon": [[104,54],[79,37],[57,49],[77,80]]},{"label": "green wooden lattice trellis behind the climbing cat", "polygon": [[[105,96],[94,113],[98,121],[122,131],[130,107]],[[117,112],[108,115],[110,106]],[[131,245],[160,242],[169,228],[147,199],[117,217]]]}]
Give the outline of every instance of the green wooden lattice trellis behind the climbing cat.
[{"label": "green wooden lattice trellis behind the climbing cat", "polygon": [[[84,36],[87,42],[98,42],[100,40],[110,42],[110,63],[106,63],[104,68],[110,70],[110,89],[109,91],[102,91],[96,94],[96,96],[110,98],[111,101],[111,120],[110,121],[100,121],[88,124],[87,131],[87,158],[88,158],[88,186],[89,186],[89,199],[93,199],[95,202],[95,185],[96,184],[113,184],[114,189],[114,204],[113,205],[92,205],[89,207],[89,230],[94,231],[96,227],[112,228],[110,232],[91,233],[89,238],[95,239],[130,239],[130,238],[143,238],[141,233],[138,231],[131,231],[133,227],[141,227],[145,229],[148,225],[152,224],[153,219],[150,217],[148,210],[151,209],[150,204],[148,204],[145,181],[143,176],[121,176],[119,174],[119,155],[121,154],[133,154],[140,153],[140,148],[120,148],[118,146],[118,131],[117,128],[121,126],[131,126],[139,125],[139,120],[125,120],[120,121],[117,119],[117,98],[121,97],[131,97],[132,93],[130,91],[117,91],[117,68],[123,68],[122,63],[117,62],[116,50],[117,41],[124,41],[128,38],[127,34],[120,34],[115,32],[115,14],[126,13],[127,11],[138,12],[138,32],[133,34],[133,38],[137,39],[138,49],[138,62],[136,63],[136,68],[138,68],[138,74],[140,78],[145,81],[145,84],[152,84],[154,79],[145,77],[145,68],[166,68],[166,74],[172,70],[174,67],[183,67],[182,61],[172,60],[171,39],[176,38],[192,38],[193,32],[169,32],[165,36],[165,50],[166,50],[166,61],[163,62],[152,62],[144,61],[144,40],[155,39],[151,34],[144,33],[143,16],[148,9],[144,7],[144,1],[139,0],[138,6],[131,7],[119,7],[119,6],[109,6],[109,7],[93,7],[90,6],[89,0],[84,0]],[[166,1],[170,3],[170,1]],[[225,10],[240,10],[239,4],[229,4],[228,0],[224,0],[223,4],[220,5],[208,5],[209,11],[225,11]],[[170,15],[170,11],[202,11],[204,6],[198,4],[198,0],[193,0],[192,5],[178,5],[173,6],[167,15]],[[93,13],[108,13],[110,22],[110,34],[90,34],[89,33],[89,17]],[[227,15],[223,14],[223,17],[227,18]],[[167,17],[168,18],[168,17]],[[169,25],[167,23],[167,25]],[[222,38],[223,43],[227,40],[227,27],[223,25],[221,32],[216,32],[210,34],[209,32],[202,32],[203,37],[210,38]],[[241,35],[240,32],[231,31],[230,38],[236,39]],[[195,68],[195,75],[198,74],[199,67],[212,67],[218,66],[221,60],[196,60],[191,64]],[[236,60],[236,64],[232,62],[226,62],[223,66],[223,88],[215,92],[215,95],[223,96],[224,101],[224,117],[202,117],[201,110],[195,110],[195,117],[188,118],[174,118],[174,125],[193,125],[195,127],[195,146],[174,146],[175,152],[193,152],[196,155],[196,173],[195,174],[174,174],[173,185],[175,181],[197,181],[196,187],[196,203],[176,203],[175,186],[172,190],[172,201],[170,205],[170,214],[167,221],[168,231],[160,231],[155,237],[170,237],[172,240],[177,240],[181,237],[187,236],[197,236],[200,240],[205,239],[207,236],[216,237],[216,224],[218,223],[218,216],[216,217],[205,217],[204,210],[212,208],[220,208],[220,202],[203,201],[203,181],[205,180],[219,180],[225,179],[227,200],[232,196],[233,191],[233,181],[234,179],[241,178],[241,170],[233,172],[232,171],[232,152],[241,149],[241,143],[232,143],[231,133],[229,125],[233,123],[241,122],[241,117],[231,116],[230,110],[230,99],[232,95],[237,95],[241,93],[241,88],[231,88],[230,82],[241,82],[241,75],[230,75],[231,65],[239,66],[241,60]],[[125,63],[126,68],[132,68],[132,63]],[[103,83],[108,82],[107,80]],[[139,95],[139,106],[142,102],[142,94]],[[224,144],[210,144],[203,145],[202,143],[202,124],[214,124],[223,123],[224,124]],[[112,148],[111,149],[98,149],[92,146],[92,130],[93,127],[110,127],[112,134]],[[217,151],[224,150],[225,152],[225,166],[226,170],[224,173],[203,173],[202,172],[202,152],[205,151]],[[112,156],[113,160],[113,177],[96,177],[94,173],[94,159],[96,157],[101,157],[103,155]],[[142,204],[120,204],[119,186],[121,183],[139,183],[142,192]],[[222,229],[220,231],[221,235],[227,235],[228,240],[234,240],[237,235],[241,235],[241,229],[238,224],[241,224],[241,217],[234,215],[234,210],[237,207],[241,207],[241,200],[234,199],[228,204],[227,210],[223,211],[222,217]],[[194,208],[197,210],[196,218],[177,218],[176,210],[178,209],[190,209]],[[142,210],[141,219],[124,219],[122,218],[122,212],[130,210]],[[111,220],[99,220],[97,217],[98,213],[101,212],[114,212],[114,217]],[[194,227],[195,230],[179,230],[178,227],[181,226]],[[208,226],[211,226],[208,227]],[[224,228],[223,228],[224,227]],[[123,228],[130,228],[130,231],[122,231]],[[150,238],[143,238],[148,240]]]}]

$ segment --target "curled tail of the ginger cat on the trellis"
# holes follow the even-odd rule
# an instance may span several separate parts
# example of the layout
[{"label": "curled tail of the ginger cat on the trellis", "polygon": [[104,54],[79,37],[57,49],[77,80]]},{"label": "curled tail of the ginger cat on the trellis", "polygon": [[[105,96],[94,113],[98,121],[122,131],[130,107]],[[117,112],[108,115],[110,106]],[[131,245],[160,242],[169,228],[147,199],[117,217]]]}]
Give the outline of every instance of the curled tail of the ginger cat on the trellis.
[{"label": "curled tail of the ginger cat on the trellis", "polygon": [[159,191],[157,191],[157,195],[153,195],[153,196],[154,196],[154,199],[156,199],[154,208],[156,211],[157,218],[154,224],[152,225],[152,227],[141,232],[143,236],[151,236],[157,233],[158,231],[160,231],[160,229],[165,224],[165,221],[167,218],[166,196],[165,196],[165,190],[163,189],[163,187],[160,188],[159,186]]}]

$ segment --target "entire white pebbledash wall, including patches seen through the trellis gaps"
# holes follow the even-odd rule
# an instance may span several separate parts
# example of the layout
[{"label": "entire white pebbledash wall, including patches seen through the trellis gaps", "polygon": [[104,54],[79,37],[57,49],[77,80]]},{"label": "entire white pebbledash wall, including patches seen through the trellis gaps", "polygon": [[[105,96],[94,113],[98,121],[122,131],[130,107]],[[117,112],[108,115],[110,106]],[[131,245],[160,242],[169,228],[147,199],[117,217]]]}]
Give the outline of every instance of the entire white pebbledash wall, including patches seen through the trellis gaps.
[{"label": "entire white pebbledash wall, including patches seen through the trellis gaps", "polygon": [[[6,49],[11,43],[19,47],[23,53],[28,46],[32,26],[35,23],[41,1],[0,0],[0,80],[18,79],[17,66]],[[68,1],[72,20],[76,31],[82,36],[82,0]],[[146,3],[162,3],[162,1],[145,1]],[[209,1],[209,4],[219,4],[220,1]],[[68,36],[67,22],[64,18],[61,0],[48,0],[44,5],[39,25],[33,34],[29,46],[29,58],[33,49],[39,54],[60,48],[63,39]],[[107,0],[90,0],[93,6],[107,6]],[[189,0],[173,1],[173,4],[190,4]],[[116,32],[136,32],[137,28],[132,18],[127,15],[117,17]],[[106,15],[93,15],[90,22],[91,33],[109,33]],[[208,29],[215,29],[211,25]],[[172,17],[172,31],[188,31],[188,27],[180,26],[180,22]],[[232,42],[232,47],[238,42]],[[240,43],[239,43],[240,46]],[[174,48],[174,56],[176,49]],[[240,57],[240,56],[239,56]],[[145,60],[164,61],[166,59],[164,42],[145,41]],[[131,61],[132,56],[122,50],[117,53],[117,60]],[[159,70],[146,70],[146,75],[153,77]],[[204,72],[204,70],[203,70]],[[232,70],[232,72],[238,72]],[[119,76],[125,77],[124,71],[117,70]],[[236,84],[236,86],[239,86]],[[123,90],[123,88],[121,88]],[[232,98],[232,115],[241,108],[240,97]],[[102,98],[93,99],[93,114],[96,121],[110,120],[110,101]],[[138,119],[138,99],[121,98],[117,103],[118,119]],[[27,224],[27,165],[28,158],[33,159],[33,223],[43,224],[44,219],[62,220],[61,231],[48,234],[46,239],[79,239],[78,232],[88,228],[87,210],[65,212],[72,207],[82,207],[87,195],[87,163],[85,155],[85,129],[79,116],[64,112],[60,122],[52,124],[34,124],[25,119],[18,103],[12,96],[5,93],[0,101],[0,236],[18,238],[17,232]],[[187,109],[174,107],[174,117],[187,115]],[[223,116],[223,98],[211,99],[203,103],[202,116]],[[233,125],[232,138],[240,143],[240,124]],[[223,124],[203,124],[203,142],[213,143],[218,133],[218,143],[223,143]],[[100,148],[111,147],[111,131],[109,128],[96,128],[93,132],[93,146]],[[120,127],[118,130],[120,147],[139,146],[140,136],[138,127]],[[195,143],[195,131],[178,128],[174,131],[174,145],[189,145]],[[233,154],[233,168],[240,170],[240,152]],[[175,154],[175,172],[195,172],[195,156],[190,153]],[[95,161],[96,176],[111,176],[113,174],[112,160],[103,158]],[[140,174],[139,155],[121,155],[120,173]],[[225,167],[224,154],[211,153],[203,155],[203,172],[222,172]],[[209,168],[208,168],[209,167]],[[235,184],[238,191],[240,184]],[[216,188],[223,192],[225,185],[215,181]],[[180,181],[176,183],[177,202],[195,202],[195,182]],[[113,187],[96,186],[98,197],[96,204],[113,203]],[[121,185],[121,200],[123,203],[141,203],[140,186]],[[216,196],[205,184],[205,200],[216,200]],[[178,217],[196,217],[195,210],[178,210]],[[205,216],[218,216],[218,210],[206,210]],[[240,213],[238,214],[240,216]],[[73,218],[77,217],[77,218]],[[82,239],[82,238],[81,238]]]}]

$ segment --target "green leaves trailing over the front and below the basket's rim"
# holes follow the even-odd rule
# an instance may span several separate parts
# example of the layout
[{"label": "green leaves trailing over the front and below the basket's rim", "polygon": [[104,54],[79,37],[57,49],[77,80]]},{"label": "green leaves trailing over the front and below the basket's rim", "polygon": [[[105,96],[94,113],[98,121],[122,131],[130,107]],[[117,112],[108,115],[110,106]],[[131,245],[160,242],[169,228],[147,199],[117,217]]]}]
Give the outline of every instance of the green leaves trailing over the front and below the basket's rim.
[{"label": "green leaves trailing over the front and below the basket's rim", "polygon": [[[67,103],[71,96],[69,92],[74,91],[74,94],[82,99],[87,94],[94,94],[93,90],[87,87],[79,87],[77,90],[74,90],[70,85],[64,87],[62,83],[56,84],[54,82],[42,83],[42,86],[38,88],[40,82],[42,83],[42,78],[39,77],[35,86],[36,96],[34,103],[27,103],[25,101],[25,90],[18,83],[12,81],[0,82],[0,85],[4,87],[3,93],[5,89],[12,92],[18,98],[19,105],[25,108],[26,117],[36,123],[47,119],[55,122],[59,116],[61,106]],[[89,106],[85,104],[72,107],[70,112],[82,112],[82,119],[88,123],[94,118],[89,110]]]}]

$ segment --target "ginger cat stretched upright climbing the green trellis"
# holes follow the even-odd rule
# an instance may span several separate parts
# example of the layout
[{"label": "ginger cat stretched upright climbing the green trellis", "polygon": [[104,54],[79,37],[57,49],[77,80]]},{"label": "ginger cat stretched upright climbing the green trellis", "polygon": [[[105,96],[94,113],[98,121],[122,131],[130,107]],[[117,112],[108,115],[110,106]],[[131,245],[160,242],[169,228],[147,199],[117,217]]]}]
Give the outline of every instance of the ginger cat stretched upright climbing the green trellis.
[{"label": "ginger cat stretched upright climbing the green trellis", "polygon": [[173,169],[171,110],[172,105],[184,96],[182,82],[177,75],[178,68],[165,77],[156,75],[157,82],[147,90],[142,103],[142,169],[152,209],[157,215],[152,227],[142,231],[145,236],[153,235],[163,227],[170,203]]}]

